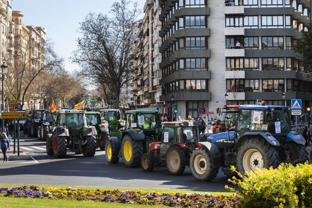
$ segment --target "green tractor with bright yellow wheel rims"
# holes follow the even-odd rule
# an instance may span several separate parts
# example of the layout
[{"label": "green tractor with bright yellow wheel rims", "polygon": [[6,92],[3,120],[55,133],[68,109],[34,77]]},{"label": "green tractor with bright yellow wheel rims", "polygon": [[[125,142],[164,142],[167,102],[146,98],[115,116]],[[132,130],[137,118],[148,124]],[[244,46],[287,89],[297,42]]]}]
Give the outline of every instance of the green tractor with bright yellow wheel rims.
[{"label": "green tractor with bright yellow wheel rims", "polygon": [[122,157],[126,167],[140,166],[141,157],[149,152],[149,145],[160,141],[162,125],[158,110],[129,110],[125,112],[125,125],[118,137],[106,142],[108,163],[117,163]]}]

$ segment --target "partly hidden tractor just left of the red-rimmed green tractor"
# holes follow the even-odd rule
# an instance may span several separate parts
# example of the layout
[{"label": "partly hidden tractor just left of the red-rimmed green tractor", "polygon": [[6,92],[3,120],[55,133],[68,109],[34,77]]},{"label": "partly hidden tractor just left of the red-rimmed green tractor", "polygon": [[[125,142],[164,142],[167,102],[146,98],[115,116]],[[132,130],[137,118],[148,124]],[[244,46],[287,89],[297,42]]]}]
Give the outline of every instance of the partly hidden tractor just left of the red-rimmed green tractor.
[{"label": "partly hidden tractor just left of the red-rimmed green tractor", "polygon": [[51,133],[53,122],[56,120],[56,112],[50,114],[50,111],[44,111],[40,117],[41,125],[38,127],[37,135],[42,141],[46,141],[46,135]]}]

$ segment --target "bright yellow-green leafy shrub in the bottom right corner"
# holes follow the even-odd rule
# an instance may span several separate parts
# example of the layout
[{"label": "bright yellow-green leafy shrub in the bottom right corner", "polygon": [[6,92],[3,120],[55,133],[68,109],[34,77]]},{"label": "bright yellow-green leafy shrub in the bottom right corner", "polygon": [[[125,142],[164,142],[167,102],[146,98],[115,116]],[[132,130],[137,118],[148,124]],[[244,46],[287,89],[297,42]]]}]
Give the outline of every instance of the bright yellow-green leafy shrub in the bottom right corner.
[{"label": "bright yellow-green leafy shrub in the bottom right corner", "polygon": [[238,186],[243,207],[312,207],[312,165],[308,163],[259,169],[229,181]]}]

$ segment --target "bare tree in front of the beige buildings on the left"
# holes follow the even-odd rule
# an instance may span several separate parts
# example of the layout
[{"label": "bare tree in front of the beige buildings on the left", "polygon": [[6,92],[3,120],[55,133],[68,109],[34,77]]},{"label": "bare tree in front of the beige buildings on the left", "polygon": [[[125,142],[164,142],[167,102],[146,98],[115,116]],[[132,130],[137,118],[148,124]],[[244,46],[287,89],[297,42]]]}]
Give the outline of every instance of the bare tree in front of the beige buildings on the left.
[{"label": "bare tree in front of the beige buildings on the left", "polygon": [[[15,36],[14,63],[7,78],[8,95],[21,100],[21,108],[27,98],[27,91],[36,79],[44,80],[40,75],[60,66],[63,59],[56,55],[51,40],[44,40],[30,30],[28,34]],[[36,86],[34,86],[36,88]]]}]

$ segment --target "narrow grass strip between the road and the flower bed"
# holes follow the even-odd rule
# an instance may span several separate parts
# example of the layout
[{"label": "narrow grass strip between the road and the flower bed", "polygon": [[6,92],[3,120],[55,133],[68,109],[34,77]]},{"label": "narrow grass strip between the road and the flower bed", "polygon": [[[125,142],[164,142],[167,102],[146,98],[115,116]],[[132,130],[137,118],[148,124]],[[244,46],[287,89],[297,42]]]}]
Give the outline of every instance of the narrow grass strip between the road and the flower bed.
[{"label": "narrow grass strip between the road and the flower bed", "polygon": [[[159,189],[159,188],[120,188],[120,187],[92,187],[92,186],[59,186],[59,185],[38,185],[38,184],[3,184],[0,183],[0,187],[16,187],[16,186],[39,186],[39,187],[43,187],[43,188],[48,188],[48,187],[61,187],[61,188],[68,188],[68,187],[72,187],[72,188],[80,188],[80,189],[90,189],[90,190],[96,190],[96,189],[100,189],[100,190],[114,190],[114,189],[119,189],[121,191],[125,191],[125,190],[131,190],[131,191],[140,191],[140,190],[144,190],[144,191],[159,191],[159,192],[180,192],[180,193],[203,193],[203,192],[208,192],[210,194],[232,194],[229,191],[218,191],[218,190],[197,190],[197,189]],[[0,203],[1,204],[1,203]]]}]

